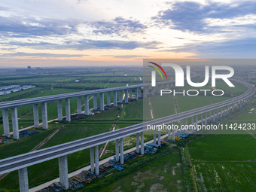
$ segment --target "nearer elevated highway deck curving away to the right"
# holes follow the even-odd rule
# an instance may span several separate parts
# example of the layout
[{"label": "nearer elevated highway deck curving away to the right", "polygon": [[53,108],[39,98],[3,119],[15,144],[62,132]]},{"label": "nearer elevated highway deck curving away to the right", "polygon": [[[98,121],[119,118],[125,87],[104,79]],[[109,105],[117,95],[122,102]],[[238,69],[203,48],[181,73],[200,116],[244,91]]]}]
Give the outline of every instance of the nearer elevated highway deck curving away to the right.
[{"label": "nearer elevated highway deck curving away to the right", "polygon": [[[247,82],[236,81],[240,84],[244,84],[248,87],[248,90],[240,96],[233,99],[228,99],[224,102],[218,102],[215,105],[207,105],[201,108],[195,108],[190,111],[184,111],[179,114],[173,114],[167,117],[162,117],[156,120],[150,120],[146,124],[162,124],[162,123],[173,123],[177,120],[182,120],[187,117],[192,117],[197,114],[203,114],[207,111],[212,111],[216,108],[221,108],[226,105],[231,105],[234,102],[239,102],[242,99],[247,99],[255,93],[255,87]],[[138,85],[137,85],[138,86]],[[108,133],[102,133],[96,136],[91,136],[85,139],[76,140],[74,142],[64,143],[62,145],[56,145],[51,148],[45,148],[38,151],[29,152],[27,154],[21,154],[15,157],[10,157],[4,160],[0,160],[0,174],[11,172],[17,169],[21,169],[26,166],[31,166],[36,163],[41,163],[47,160],[51,160],[56,157],[62,157],[66,154],[72,154],[76,151],[81,151],[86,148],[91,148],[96,145],[110,142],[115,139],[120,139],[125,136],[130,136],[136,133],[140,133],[146,130],[145,123],[139,123],[133,126],[128,126],[123,130],[114,130]]]}]

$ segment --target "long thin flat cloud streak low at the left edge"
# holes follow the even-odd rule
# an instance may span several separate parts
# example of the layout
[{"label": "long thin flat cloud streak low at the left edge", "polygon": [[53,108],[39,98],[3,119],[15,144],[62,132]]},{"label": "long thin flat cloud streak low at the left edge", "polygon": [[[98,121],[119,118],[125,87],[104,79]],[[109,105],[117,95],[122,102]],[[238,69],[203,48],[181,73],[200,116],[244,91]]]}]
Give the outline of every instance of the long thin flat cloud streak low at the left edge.
[{"label": "long thin flat cloud streak low at the left edge", "polygon": [[17,52],[17,53],[3,53],[0,56],[8,57],[8,56],[32,56],[32,57],[81,57],[81,56],[89,56],[89,55],[81,55],[81,54],[53,54],[53,53],[25,53],[25,52]]}]

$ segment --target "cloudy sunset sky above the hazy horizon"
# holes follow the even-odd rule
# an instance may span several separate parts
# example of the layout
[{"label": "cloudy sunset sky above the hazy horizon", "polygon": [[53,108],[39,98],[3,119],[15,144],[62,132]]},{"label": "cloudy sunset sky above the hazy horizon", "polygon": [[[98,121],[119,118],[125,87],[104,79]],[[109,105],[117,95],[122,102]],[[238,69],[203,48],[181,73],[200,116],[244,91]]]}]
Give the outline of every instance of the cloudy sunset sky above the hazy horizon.
[{"label": "cloudy sunset sky above the hazy horizon", "polygon": [[0,68],[256,56],[256,1],[2,0]]}]

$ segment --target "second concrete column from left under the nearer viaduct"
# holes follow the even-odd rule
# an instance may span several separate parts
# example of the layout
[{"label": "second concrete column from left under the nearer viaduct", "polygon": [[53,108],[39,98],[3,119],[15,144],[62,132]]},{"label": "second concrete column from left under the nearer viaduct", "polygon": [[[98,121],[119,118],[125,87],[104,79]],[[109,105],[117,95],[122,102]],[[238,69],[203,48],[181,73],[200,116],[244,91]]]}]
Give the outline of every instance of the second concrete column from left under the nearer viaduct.
[{"label": "second concrete column from left under the nearer viaduct", "polygon": [[59,184],[66,190],[69,189],[68,157],[59,157]]}]

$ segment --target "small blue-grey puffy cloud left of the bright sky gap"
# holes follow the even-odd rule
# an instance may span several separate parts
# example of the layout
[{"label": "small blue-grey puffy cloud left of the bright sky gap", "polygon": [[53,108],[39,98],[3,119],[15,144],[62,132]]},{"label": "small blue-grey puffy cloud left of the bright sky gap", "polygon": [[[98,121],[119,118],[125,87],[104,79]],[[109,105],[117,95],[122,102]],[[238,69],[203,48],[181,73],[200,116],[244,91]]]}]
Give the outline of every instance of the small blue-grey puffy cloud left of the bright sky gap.
[{"label": "small blue-grey puffy cloud left of the bright sky gap", "polygon": [[123,17],[116,17],[111,21],[96,21],[90,24],[96,27],[93,33],[96,35],[123,35],[123,32],[143,32],[148,26],[140,23],[138,20],[126,20]]}]

